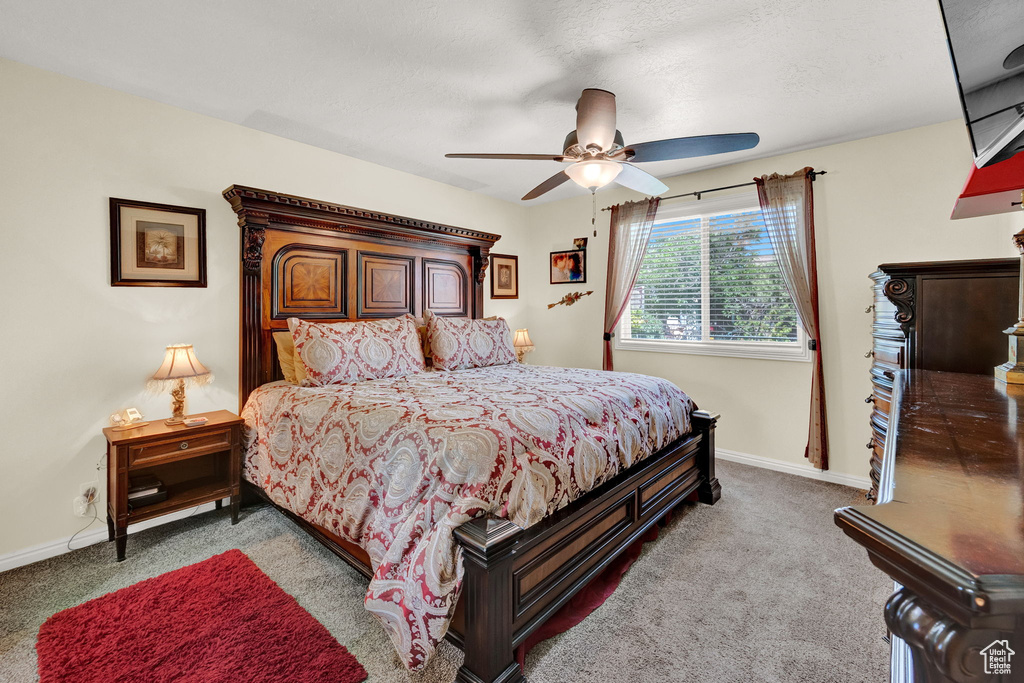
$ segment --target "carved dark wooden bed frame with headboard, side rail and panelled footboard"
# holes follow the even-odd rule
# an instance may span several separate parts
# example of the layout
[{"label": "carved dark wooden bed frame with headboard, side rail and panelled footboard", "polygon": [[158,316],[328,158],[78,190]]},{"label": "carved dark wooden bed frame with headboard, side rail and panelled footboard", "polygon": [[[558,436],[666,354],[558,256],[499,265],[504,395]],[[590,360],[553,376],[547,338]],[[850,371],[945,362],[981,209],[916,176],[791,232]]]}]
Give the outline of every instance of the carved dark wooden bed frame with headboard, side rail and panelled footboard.
[{"label": "carved dark wooden bed frame with headboard, side rail and panelled footboard", "polygon": [[[499,236],[239,185],[223,194],[242,228],[240,408],[282,378],[272,333],[287,330],[288,317],[483,314]],[[447,633],[466,653],[457,681],[524,681],[513,652],[529,634],[674,507],[718,501],[716,420],[694,413],[688,435],[529,528],[485,517],[455,530],[465,567]],[[267,500],[243,485],[247,498]],[[372,574],[360,548],[278,509]]]}]

